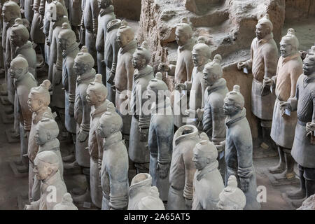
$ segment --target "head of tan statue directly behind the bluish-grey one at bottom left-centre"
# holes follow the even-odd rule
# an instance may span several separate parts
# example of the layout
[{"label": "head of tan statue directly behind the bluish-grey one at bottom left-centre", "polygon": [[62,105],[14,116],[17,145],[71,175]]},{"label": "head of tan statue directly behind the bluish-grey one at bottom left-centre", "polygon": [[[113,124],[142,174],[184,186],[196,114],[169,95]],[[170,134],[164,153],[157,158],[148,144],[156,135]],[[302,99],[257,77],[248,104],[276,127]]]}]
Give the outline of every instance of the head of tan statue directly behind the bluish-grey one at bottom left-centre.
[{"label": "head of tan statue directly behind the bluish-grey one at bottom left-centre", "polygon": [[107,89],[102,83],[102,75],[96,74],[94,82],[90,83],[86,90],[87,104],[98,106],[105,102],[106,97]]}]

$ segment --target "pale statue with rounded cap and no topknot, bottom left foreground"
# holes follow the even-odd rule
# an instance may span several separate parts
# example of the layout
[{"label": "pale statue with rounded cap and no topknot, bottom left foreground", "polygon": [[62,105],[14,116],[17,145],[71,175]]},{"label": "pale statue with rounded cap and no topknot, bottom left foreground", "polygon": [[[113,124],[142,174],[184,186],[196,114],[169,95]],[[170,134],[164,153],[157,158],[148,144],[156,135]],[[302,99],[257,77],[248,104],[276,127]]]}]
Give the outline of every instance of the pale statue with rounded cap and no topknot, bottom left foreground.
[{"label": "pale statue with rounded cap and no topknot, bottom left foreground", "polygon": [[36,155],[34,174],[41,181],[41,197],[31,204],[27,204],[25,210],[52,210],[56,204],[62,202],[67,191],[58,168],[59,159],[56,153],[43,151]]}]

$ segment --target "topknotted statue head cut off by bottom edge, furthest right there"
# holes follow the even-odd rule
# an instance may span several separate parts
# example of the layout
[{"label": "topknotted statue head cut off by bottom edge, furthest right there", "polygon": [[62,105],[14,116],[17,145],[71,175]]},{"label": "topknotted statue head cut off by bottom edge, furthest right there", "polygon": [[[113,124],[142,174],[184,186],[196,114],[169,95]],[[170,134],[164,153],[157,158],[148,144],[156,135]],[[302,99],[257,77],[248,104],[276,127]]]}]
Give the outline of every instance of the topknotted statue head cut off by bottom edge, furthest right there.
[{"label": "topknotted statue head cut off by bottom edge, furthest right there", "polygon": [[228,185],[219,195],[219,202],[216,207],[219,210],[243,210],[246,205],[244,192],[237,188],[237,179],[231,175]]}]

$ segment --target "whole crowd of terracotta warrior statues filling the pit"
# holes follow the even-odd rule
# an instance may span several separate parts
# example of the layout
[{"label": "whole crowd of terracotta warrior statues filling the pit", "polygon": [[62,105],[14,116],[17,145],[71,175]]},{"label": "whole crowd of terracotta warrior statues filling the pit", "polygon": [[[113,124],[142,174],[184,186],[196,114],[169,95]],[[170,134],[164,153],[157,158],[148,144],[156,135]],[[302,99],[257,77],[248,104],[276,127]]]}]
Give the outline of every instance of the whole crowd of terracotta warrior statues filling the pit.
[{"label": "whole crowd of terracotta warrior statues filling the pit", "polygon": [[[260,209],[240,93],[246,86],[228,90],[221,55],[211,59],[207,41],[193,37],[187,18],[176,25],[176,65],[161,63],[153,74],[148,45],[137,46],[111,0],[71,0],[68,6],[34,0],[32,9],[26,2],[23,19],[15,1],[2,8],[8,99],[21,160],[29,167],[25,209],[77,209],[72,201],[88,198],[100,209]],[[30,40],[49,68],[39,86]],[[270,172],[292,179],[296,161],[301,188],[288,197],[302,199],[315,193],[315,49],[301,58],[298,47],[288,29],[278,59],[265,15],[251,59],[237,68],[253,73],[251,111],[262,127],[262,144],[278,147],[279,165]],[[162,73],[174,76],[173,92]],[[68,157],[75,162],[62,158],[56,116],[73,139]],[[137,172],[131,183],[130,161]],[[71,197],[63,171],[75,165],[87,188]],[[55,200],[48,200],[52,187]]]}]

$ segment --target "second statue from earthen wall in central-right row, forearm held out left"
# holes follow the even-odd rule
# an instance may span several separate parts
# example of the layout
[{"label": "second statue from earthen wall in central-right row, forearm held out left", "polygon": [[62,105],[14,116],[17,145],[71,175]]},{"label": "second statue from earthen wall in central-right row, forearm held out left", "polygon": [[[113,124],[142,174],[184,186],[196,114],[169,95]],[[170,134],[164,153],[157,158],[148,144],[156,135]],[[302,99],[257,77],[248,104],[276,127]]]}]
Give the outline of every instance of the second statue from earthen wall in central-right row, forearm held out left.
[{"label": "second statue from earthen wall in central-right row, forearm held out left", "polygon": [[[191,75],[191,80],[185,83],[175,84],[176,90],[189,90],[189,109],[197,111],[197,109],[202,109],[204,106],[204,90],[206,89],[206,83],[204,83],[204,65],[210,60],[211,50],[209,45],[204,41],[204,37],[200,36],[198,38],[197,44],[193,47],[193,64],[194,69]],[[195,116],[193,116],[194,121],[190,122],[186,120],[186,123],[196,125],[198,129],[202,130],[202,125],[195,122]]]}]

